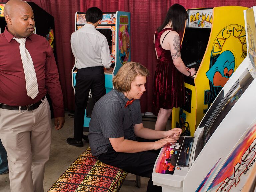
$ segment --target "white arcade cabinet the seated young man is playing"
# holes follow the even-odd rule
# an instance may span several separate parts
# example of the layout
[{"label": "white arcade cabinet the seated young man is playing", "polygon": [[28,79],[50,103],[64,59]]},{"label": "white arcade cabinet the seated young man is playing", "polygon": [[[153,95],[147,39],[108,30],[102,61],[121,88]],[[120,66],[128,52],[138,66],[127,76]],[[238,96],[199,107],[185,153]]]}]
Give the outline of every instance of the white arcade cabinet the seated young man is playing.
[{"label": "white arcade cabinet the seated young man is playing", "polygon": [[244,18],[246,58],[213,101],[194,137],[181,137],[159,153],[152,180],[163,186],[163,192],[240,192],[255,167],[256,6],[245,10]]}]

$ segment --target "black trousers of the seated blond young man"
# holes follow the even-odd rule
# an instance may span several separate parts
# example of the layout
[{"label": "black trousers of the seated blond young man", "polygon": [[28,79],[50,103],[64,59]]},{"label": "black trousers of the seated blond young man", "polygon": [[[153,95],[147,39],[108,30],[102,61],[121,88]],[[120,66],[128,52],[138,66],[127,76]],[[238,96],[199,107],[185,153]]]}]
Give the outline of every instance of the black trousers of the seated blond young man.
[{"label": "black trousers of the seated blond young man", "polygon": [[[152,142],[137,138],[140,142]],[[106,153],[101,154],[98,159],[108,165],[112,165],[123,169],[126,172],[139,175],[142,177],[149,177],[147,192],[161,192],[162,187],[153,185],[152,172],[157,156],[161,149],[143,151],[138,153],[119,153],[116,152],[110,145]]]}]

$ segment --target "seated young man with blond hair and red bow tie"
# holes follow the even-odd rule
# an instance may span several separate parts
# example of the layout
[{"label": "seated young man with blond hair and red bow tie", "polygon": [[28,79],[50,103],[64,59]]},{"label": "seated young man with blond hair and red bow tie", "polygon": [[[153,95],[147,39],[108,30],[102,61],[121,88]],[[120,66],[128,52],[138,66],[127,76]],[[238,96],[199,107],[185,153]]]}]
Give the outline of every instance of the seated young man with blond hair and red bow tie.
[{"label": "seated young man with blond hair and red bow tie", "polygon": [[143,127],[140,97],[148,70],[128,62],[113,78],[114,89],[96,102],[89,124],[92,154],[100,161],[129,173],[149,177],[147,192],[162,191],[153,185],[152,172],[159,150],[176,142],[182,130],[156,131]]}]

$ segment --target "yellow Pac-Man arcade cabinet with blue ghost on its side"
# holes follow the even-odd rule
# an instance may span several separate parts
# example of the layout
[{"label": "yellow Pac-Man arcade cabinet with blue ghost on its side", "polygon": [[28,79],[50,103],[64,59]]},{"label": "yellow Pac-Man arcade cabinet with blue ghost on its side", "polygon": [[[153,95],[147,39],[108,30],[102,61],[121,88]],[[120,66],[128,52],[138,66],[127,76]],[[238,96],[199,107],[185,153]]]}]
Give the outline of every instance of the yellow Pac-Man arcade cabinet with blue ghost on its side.
[{"label": "yellow Pac-Man arcade cabinet with blue ghost on its side", "polygon": [[187,10],[181,57],[197,73],[185,77],[185,104],[173,109],[172,128],[182,126],[193,136],[210,104],[246,57],[245,9],[224,6]]}]

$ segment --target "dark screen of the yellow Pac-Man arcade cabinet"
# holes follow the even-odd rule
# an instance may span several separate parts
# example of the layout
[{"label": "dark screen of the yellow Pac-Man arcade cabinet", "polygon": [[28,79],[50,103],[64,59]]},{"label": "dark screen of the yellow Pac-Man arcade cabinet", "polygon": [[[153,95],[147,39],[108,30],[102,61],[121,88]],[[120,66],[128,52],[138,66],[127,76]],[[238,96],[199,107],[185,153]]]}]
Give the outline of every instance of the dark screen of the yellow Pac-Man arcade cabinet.
[{"label": "dark screen of the yellow Pac-Man arcade cabinet", "polygon": [[181,58],[187,67],[191,68],[192,65],[198,64],[198,66],[193,66],[198,69],[203,59],[210,33],[211,29],[186,28],[181,46]]}]

